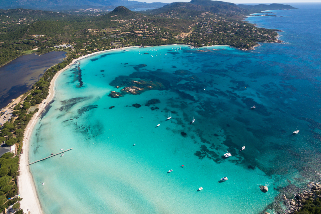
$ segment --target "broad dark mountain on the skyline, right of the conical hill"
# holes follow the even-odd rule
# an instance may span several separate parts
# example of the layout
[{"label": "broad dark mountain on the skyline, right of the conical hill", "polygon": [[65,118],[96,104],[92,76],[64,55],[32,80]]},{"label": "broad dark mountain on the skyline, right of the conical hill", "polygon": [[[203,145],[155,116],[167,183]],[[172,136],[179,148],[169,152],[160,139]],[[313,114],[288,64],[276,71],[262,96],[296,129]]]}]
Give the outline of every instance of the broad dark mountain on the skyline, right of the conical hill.
[{"label": "broad dark mountain on the skyline, right of the conical hill", "polygon": [[204,12],[227,14],[230,16],[247,13],[246,9],[238,7],[236,4],[210,1],[210,0],[192,0],[190,2],[174,2],[161,8],[147,10],[146,14],[156,15],[160,13],[173,13],[181,17],[193,17]]}]

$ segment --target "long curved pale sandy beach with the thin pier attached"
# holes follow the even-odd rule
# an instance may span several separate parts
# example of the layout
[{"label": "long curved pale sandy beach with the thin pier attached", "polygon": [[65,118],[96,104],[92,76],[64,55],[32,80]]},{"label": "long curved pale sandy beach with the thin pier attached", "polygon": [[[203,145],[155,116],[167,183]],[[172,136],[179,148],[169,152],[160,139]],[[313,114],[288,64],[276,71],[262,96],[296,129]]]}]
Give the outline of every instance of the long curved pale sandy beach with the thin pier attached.
[{"label": "long curved pale sandy beach with the thin pier attached", "polygon": [[[134,46],[134,47],[140,47],[140,46]],[[33,115],[31,118],[29,124],[26,127],[25,133],[24,133],[24,139],[23,139],[23,153],[20,155],[20,175],[19,175],[19,192],[23,200],[20,202],[21,209],[23,209],[24,213],[30,213],[30,214],[42,214],[41,205],[38,199],[38,195],[36,192],[36,187],[32,178],[32,175],[30,173],[29,166],[29,142],[30,137],[32,134],[32,130],[35,126],[35,124],[38,121],[38,117],[41,116],[41,114],[44,112],[45,107],[48,105],[48,103],[54,98],[55,95],[55,81],[58,78],[58,76],[63,73],[65,70],[69,69],[70,66],[75,64],[78,60],[81,60],[85,57],[89,57],[95,54],[100,54],[107,51],[114,51],[114,50],[121,50],[125,48],[132,48],[132,47],[123,47],[118,49],[111,49],[111,50],[105,50],[100,52],[95,52],[92,54],[88,54],[82,57],[79,57],[78,59],[74,59],[71,64],[69,64],[64,69],[60,70],[56,73],[56,75],[53,77],[53,79],[50,82],[49,86],[49,95],[48,97],[42,101],[42,103],[39,104],[38,108],[39,111]],[[44,104],[46,102],[46,104]]]}]

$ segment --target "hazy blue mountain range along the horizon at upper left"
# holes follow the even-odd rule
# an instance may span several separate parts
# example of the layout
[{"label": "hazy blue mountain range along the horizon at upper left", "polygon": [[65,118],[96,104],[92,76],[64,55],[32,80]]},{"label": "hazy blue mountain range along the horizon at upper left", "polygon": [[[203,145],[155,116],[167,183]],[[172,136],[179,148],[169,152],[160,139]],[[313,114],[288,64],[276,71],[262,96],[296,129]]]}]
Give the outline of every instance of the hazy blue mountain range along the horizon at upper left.
[{"label": "hazy blue mountain range along the horizon at upper left", "polygon": [[96,7],[104,6],[131,6],[138,5],[140,7],[161,7],[166,3],[154,2],[138,2],[128,0],[1,0],[0,8],[29,8],[29,9],[46,9],[60,6],[62,9],[64,6],[84,6],[91,5]]}]

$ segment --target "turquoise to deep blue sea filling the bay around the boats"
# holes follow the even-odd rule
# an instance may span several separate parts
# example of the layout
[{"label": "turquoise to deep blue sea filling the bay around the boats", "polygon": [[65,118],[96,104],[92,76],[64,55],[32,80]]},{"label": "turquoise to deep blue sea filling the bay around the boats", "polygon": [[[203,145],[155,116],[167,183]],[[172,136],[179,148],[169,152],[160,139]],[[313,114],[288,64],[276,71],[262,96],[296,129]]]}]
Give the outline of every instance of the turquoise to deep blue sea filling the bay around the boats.
[{"label": "turquoise to deep blue sea filling the bay around the boats", "polygon": [[284,44],[114,50],[62,73],[30,145],[30,162],[74,148],[30,166],[44,213],[278,213],[320,180],[321,6],[293,6],[248,19]]}]

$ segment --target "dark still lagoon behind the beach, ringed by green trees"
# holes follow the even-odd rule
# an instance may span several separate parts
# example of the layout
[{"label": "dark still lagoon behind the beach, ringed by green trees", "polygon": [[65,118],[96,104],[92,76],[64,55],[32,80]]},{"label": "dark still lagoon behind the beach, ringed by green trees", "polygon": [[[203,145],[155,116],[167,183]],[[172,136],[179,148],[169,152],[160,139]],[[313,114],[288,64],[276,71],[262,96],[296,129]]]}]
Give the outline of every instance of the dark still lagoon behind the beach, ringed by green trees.
[{"label": "dark still lagoon behind the beach, ringed by green trees", "polygon": [[0,108],[29,90],[48,68],[62,62],[65,53],[23,55],[0,67]]}]

